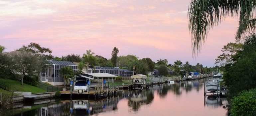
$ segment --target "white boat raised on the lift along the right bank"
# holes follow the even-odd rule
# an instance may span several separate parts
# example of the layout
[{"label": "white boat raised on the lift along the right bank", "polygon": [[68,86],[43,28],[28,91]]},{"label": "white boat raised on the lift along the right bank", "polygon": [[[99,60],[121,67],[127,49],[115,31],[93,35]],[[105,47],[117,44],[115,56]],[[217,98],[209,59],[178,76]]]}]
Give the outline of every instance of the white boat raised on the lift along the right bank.
[{"label": "white boat raised on the lift along the right bank", "polygon": [[222,81],[220,78],[212,78],[206,82],[206,90],[210,92],[216,92],[220,90],[219,81]]}]

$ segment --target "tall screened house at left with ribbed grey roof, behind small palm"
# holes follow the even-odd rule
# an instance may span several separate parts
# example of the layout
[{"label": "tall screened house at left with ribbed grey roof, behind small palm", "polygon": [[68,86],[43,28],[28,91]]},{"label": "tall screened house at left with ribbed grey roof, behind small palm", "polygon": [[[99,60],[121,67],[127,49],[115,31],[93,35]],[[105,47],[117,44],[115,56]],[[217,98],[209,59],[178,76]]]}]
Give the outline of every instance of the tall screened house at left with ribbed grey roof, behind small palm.
[{"label": "tall screened house at left with ribbed grey roof, behind small palm", "polygon": [[60,74],[63,67],[70,67],[73,72],[77,71],[77,65],[69,61],[54,61],[50,60],[46,68],[41,73],[41,82],[49,83],[54,86],[64,85],[64,79]]}]

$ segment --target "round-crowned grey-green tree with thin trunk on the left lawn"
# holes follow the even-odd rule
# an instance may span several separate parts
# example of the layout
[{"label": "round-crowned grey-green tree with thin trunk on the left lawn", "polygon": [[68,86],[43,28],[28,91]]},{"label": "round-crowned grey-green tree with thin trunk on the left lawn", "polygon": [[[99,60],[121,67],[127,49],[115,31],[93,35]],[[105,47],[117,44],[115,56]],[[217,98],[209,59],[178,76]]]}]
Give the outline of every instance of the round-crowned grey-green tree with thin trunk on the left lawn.
[{"label": "round-crowned grey-green tree with thin trunk on the left lawn", "polygon": [[23,85],[24,76],[32,77],[40,73],[44,62],[38,54],[29,51],[18,50],[9,53],[12,62],[13,73],[21,76],[21,85]]}]

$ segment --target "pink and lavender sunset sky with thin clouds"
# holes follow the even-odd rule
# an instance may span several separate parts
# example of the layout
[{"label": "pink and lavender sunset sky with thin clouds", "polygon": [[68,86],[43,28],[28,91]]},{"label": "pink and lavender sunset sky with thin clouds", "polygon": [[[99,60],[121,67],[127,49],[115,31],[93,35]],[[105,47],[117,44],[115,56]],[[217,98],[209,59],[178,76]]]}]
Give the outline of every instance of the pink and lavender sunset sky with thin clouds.
[{"label": "pink and lavender sunset sky with thin clouds", "polygon": [[190,1],[2,0],[0,45],[13,51],[36,42],[58,57],[81,56],[91,49],[108,59],[116,46],[118,55],[214,66],[223,45],[235,42],[238,20],[227,18],[211,29],[193,58],[187,18]]}]

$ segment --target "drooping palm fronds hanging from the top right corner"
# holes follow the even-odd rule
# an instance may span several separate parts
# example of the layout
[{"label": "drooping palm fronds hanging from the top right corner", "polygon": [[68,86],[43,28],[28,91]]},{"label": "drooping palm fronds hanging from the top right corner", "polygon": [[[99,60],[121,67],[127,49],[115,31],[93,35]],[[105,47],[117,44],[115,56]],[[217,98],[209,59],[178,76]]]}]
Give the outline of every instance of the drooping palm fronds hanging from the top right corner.
[{"label": "drooping palm fronds hanging from the top right corner", "polygon": [[240,41],[242,34],[255,30],[255,8],[255,0],[192,0],[188,10],[192,52],[200,51],[209,29],[218,25],[227,16],[239,15],[236,41]]}]

